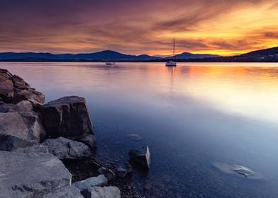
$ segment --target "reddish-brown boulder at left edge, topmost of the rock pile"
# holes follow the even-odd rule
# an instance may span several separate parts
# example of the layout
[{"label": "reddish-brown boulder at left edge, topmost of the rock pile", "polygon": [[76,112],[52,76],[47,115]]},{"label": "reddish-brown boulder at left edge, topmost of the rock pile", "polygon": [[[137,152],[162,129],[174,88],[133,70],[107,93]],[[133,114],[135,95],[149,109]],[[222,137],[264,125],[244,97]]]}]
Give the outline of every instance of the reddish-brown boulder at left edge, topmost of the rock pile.
[{"label": "reddish-brown boulder at left edge, topmost of the rock pile", "polygon": [[0,97],[4,102],[11,102],[14,95],[13,75],[6,69],[0,69]]}]

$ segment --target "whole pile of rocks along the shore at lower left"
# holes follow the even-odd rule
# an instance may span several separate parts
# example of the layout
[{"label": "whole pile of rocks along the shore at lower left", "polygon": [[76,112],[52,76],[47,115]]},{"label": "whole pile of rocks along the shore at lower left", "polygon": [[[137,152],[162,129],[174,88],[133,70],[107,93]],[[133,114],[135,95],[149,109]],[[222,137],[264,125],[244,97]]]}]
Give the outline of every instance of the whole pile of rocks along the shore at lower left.
[{"label": "whole pile of rocks along the shore at lower left", "polygon": [[0,69],[0,197],[140,197],[130,179],[133,165],[150,168],[148,146],[130,150],[121,166],[103,163],[86,100],[44,102]]}]

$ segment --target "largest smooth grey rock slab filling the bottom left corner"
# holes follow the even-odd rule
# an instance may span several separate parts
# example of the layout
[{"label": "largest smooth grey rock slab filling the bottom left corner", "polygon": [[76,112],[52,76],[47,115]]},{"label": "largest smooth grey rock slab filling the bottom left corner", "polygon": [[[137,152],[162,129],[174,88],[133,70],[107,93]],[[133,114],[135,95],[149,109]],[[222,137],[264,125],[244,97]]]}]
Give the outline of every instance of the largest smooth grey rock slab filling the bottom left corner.
[{"label": "largest smooth grey rock slab filling the bottom left corner", "polygon": [[41,197],[71,184],[72,175],[52,154],[0,151],[0,197]]}]

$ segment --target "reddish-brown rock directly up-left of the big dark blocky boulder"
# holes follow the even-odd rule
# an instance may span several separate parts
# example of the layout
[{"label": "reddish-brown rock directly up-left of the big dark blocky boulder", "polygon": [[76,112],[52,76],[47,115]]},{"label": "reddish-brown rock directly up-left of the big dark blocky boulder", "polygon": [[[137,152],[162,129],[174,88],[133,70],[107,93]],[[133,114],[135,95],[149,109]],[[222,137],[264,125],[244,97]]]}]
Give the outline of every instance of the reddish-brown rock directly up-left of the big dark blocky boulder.
[{"label": "reddish-brown rock directly up-left of the big dark blocky boulder", "polygon": [[34,109],[40,109],[45,103],[45,95],[34,89],[15,89],[13,103],[19,103],[22,100],[28,100]]}]

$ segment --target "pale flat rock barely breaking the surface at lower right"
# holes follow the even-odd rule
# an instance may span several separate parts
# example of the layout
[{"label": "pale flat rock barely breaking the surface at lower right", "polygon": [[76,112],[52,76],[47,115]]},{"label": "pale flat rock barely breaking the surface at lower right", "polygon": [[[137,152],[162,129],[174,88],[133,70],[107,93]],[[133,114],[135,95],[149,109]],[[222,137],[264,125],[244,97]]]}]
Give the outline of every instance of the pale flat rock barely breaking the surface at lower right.
[{"label": "pale flat rock barely breaking the surface at lower right", "polygon": [[256,173],[255,171],[250,170],[250,168],[247,168],[243,165],[229,165],[226,163],[219,162],[215,162],[213,163],[213,165],[219,170],[223,171],[223,173],[234,174],[240,177],[246,177],[248,179],[265,179],[265,177],[262,176],[260,173]]}]

